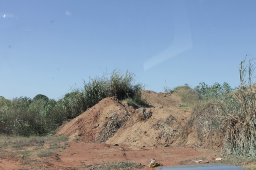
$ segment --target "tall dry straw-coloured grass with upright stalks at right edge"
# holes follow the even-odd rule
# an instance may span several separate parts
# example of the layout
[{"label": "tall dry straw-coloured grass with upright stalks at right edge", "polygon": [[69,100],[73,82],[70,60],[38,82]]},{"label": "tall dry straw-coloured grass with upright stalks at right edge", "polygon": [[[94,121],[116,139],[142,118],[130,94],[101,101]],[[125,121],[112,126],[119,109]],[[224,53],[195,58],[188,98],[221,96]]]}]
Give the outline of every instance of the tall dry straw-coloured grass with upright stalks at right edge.
[{"label": "tall dry straw-coloured grass with upright stalks at right edge", "polygon": [[220,100],[219,116],[226,122],[226,149],[229,153],[256,158],[256,86],[254,58],[240,63],[240,86]]}]

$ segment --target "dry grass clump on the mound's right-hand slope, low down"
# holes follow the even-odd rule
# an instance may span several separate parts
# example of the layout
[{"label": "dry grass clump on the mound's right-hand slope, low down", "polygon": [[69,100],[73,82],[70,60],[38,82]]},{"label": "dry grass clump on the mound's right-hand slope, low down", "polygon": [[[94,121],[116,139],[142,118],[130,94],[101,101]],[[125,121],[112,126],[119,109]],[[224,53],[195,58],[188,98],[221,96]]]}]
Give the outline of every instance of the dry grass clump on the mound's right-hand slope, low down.
[{"label": "dry grass clump on the mound's right-hand slope, low down", "polygon": [[173,116],[169,116],[166,121],[160,119],[154,127],[160,130],[159,138],[165,139],[166,143],[172,143],[173,137],[180,134],[180,123]]}]

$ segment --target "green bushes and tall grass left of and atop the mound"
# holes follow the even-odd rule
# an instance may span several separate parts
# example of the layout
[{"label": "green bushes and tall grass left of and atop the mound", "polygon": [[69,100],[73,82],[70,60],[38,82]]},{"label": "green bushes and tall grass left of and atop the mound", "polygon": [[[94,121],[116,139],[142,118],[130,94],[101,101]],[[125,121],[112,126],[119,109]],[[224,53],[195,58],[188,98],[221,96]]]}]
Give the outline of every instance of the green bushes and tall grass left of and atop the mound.
[{"label": "green bushes and tall grass left of and atop the mound", "polygon": [[107,75],[90,78],[83,88],[73,89],[58,101],[42,94],[33,99],[16,97],[12,101],[0,97],[0,133],[24,136],[54,133],[63,121],[77,117],[106,97],[116,96],[145,106],[146,100],[141,98],[143,88],[135,83],[133,73],[114,70],[110,78]]}]

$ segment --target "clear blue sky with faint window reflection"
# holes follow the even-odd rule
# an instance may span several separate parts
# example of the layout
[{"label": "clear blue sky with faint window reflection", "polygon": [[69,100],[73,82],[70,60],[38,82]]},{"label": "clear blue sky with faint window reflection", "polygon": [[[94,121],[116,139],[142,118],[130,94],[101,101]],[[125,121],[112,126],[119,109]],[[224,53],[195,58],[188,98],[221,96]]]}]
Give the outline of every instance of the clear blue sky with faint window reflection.
[{"label": "clear blue sky with faint window reflection", "polygon": [[118,68],[146,89],[239,85],[256,0],[0,0],[0,96],[59,99]]}]

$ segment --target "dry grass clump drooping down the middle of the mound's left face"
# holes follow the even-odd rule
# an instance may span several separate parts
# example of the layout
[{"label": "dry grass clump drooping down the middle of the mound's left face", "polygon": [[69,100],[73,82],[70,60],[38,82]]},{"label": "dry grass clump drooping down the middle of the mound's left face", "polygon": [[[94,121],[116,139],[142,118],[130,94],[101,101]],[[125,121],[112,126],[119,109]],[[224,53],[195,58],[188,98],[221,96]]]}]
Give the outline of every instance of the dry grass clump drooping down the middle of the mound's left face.
[{"label": "dry grass clump drooping down the middle of the mound's left face", "polygon": [[106,142],[117,132],[118,128],[123,127],[127,121],[127,113],[121,114],[113,112],[109,115],[108,120],[105,121],[101,127],[98,137],[95,139],[96,142]]}]

